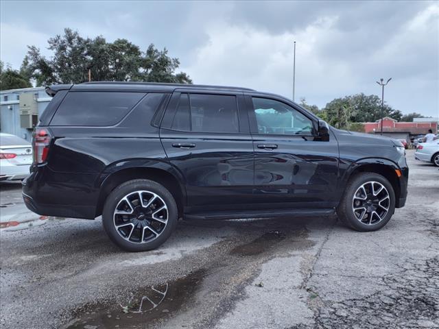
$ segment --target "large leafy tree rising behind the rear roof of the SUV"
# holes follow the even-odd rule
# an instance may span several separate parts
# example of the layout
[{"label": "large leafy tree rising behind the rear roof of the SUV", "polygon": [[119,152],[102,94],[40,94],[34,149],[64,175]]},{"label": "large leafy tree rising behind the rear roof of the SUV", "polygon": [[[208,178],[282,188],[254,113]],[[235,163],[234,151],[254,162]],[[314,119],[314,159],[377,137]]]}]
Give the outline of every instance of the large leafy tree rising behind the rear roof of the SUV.
[{"label": "large leafy tree rising behind the rear roof of the SUV", "polygon": [[51,58],[40,54],[35,46],[28,47],[21,71],[43,84],[78,84],[88,81],[88,70],[94,81],[144,81],[191,84],[186,73],[176,73],[180,61],[168,56],[167,49],[154,45],[141,51],[126,39],[107,42],[102,36],[83,38],[72,29],[64,35],[49,38]]}]

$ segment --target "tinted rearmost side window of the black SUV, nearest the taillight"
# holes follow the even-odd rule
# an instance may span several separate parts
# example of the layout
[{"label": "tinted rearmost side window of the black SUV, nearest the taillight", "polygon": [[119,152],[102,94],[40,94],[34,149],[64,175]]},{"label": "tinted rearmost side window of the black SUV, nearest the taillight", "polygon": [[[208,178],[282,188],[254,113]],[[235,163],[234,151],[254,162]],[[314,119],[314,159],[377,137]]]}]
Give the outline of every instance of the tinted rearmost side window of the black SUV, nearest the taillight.
[{"label": "tinted rearmost side window of the black SUV, nearest the taillight", "polygon": [[115,125],[145,96],[143,93],[68,93],[50,125]]}]

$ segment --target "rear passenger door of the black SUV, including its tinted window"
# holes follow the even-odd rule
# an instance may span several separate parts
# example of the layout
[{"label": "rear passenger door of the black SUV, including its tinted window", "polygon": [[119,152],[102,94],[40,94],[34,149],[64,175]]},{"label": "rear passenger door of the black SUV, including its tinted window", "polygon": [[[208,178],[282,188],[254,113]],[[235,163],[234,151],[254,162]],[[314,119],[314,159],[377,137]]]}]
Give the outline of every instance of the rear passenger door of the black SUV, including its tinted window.
[{"label": "rear passenger door of the black SUV, including its tinted window", "polygon": [[176,90],[160,136],[186,180],[188,206],[252,202],[253,145],[242,93]]}]

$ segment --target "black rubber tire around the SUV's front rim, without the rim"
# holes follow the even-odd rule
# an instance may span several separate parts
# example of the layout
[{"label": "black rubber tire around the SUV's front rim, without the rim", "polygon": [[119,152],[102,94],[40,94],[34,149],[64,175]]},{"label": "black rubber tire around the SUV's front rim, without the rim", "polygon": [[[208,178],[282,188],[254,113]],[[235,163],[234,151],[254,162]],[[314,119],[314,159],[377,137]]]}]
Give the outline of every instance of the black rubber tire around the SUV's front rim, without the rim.
[{"label": "black rubber tire around the SUV's front rim, without the rim", "polygon": [[[381,221],[370,224],[360,221],[353,210],[353,197],[357,192],[357,189],[368,182],[378,182],[382,184],[387,190],[389,197],[389,202],[387,204],[388,210],[385,215],[383,215]],[[385,193],[385,191],[383,191],[383,193]],[[337,215],[340,221],[342,221],[342,223],[344,223],[349,228],[360,232],[370,232],[383,228],[383,226],[385,226],[385,224],[390,221],[394,210],[395,193],[393,191],[392,184],[390,184],[390,182],[386,178],[384,178],[382,175],[379,175],[378,173],[359,173],[349,180],[346,186],[346,190],[344,191],[344,195],[340,200],[340,204],[337,207]]]}]

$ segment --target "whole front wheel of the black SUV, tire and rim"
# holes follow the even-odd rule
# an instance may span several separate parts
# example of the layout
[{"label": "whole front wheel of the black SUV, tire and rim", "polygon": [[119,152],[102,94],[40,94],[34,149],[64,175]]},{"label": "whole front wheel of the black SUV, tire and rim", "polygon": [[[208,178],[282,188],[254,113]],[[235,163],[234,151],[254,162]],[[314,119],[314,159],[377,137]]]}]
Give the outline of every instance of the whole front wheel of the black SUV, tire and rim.
[{"label": "whole front wheel of the black SUV, tire and rim", "polygon": [[392,184],[377,173],[360,173],[348,182],[337,214],[346,226],[369,232],[385,226],[394,210]]}]

